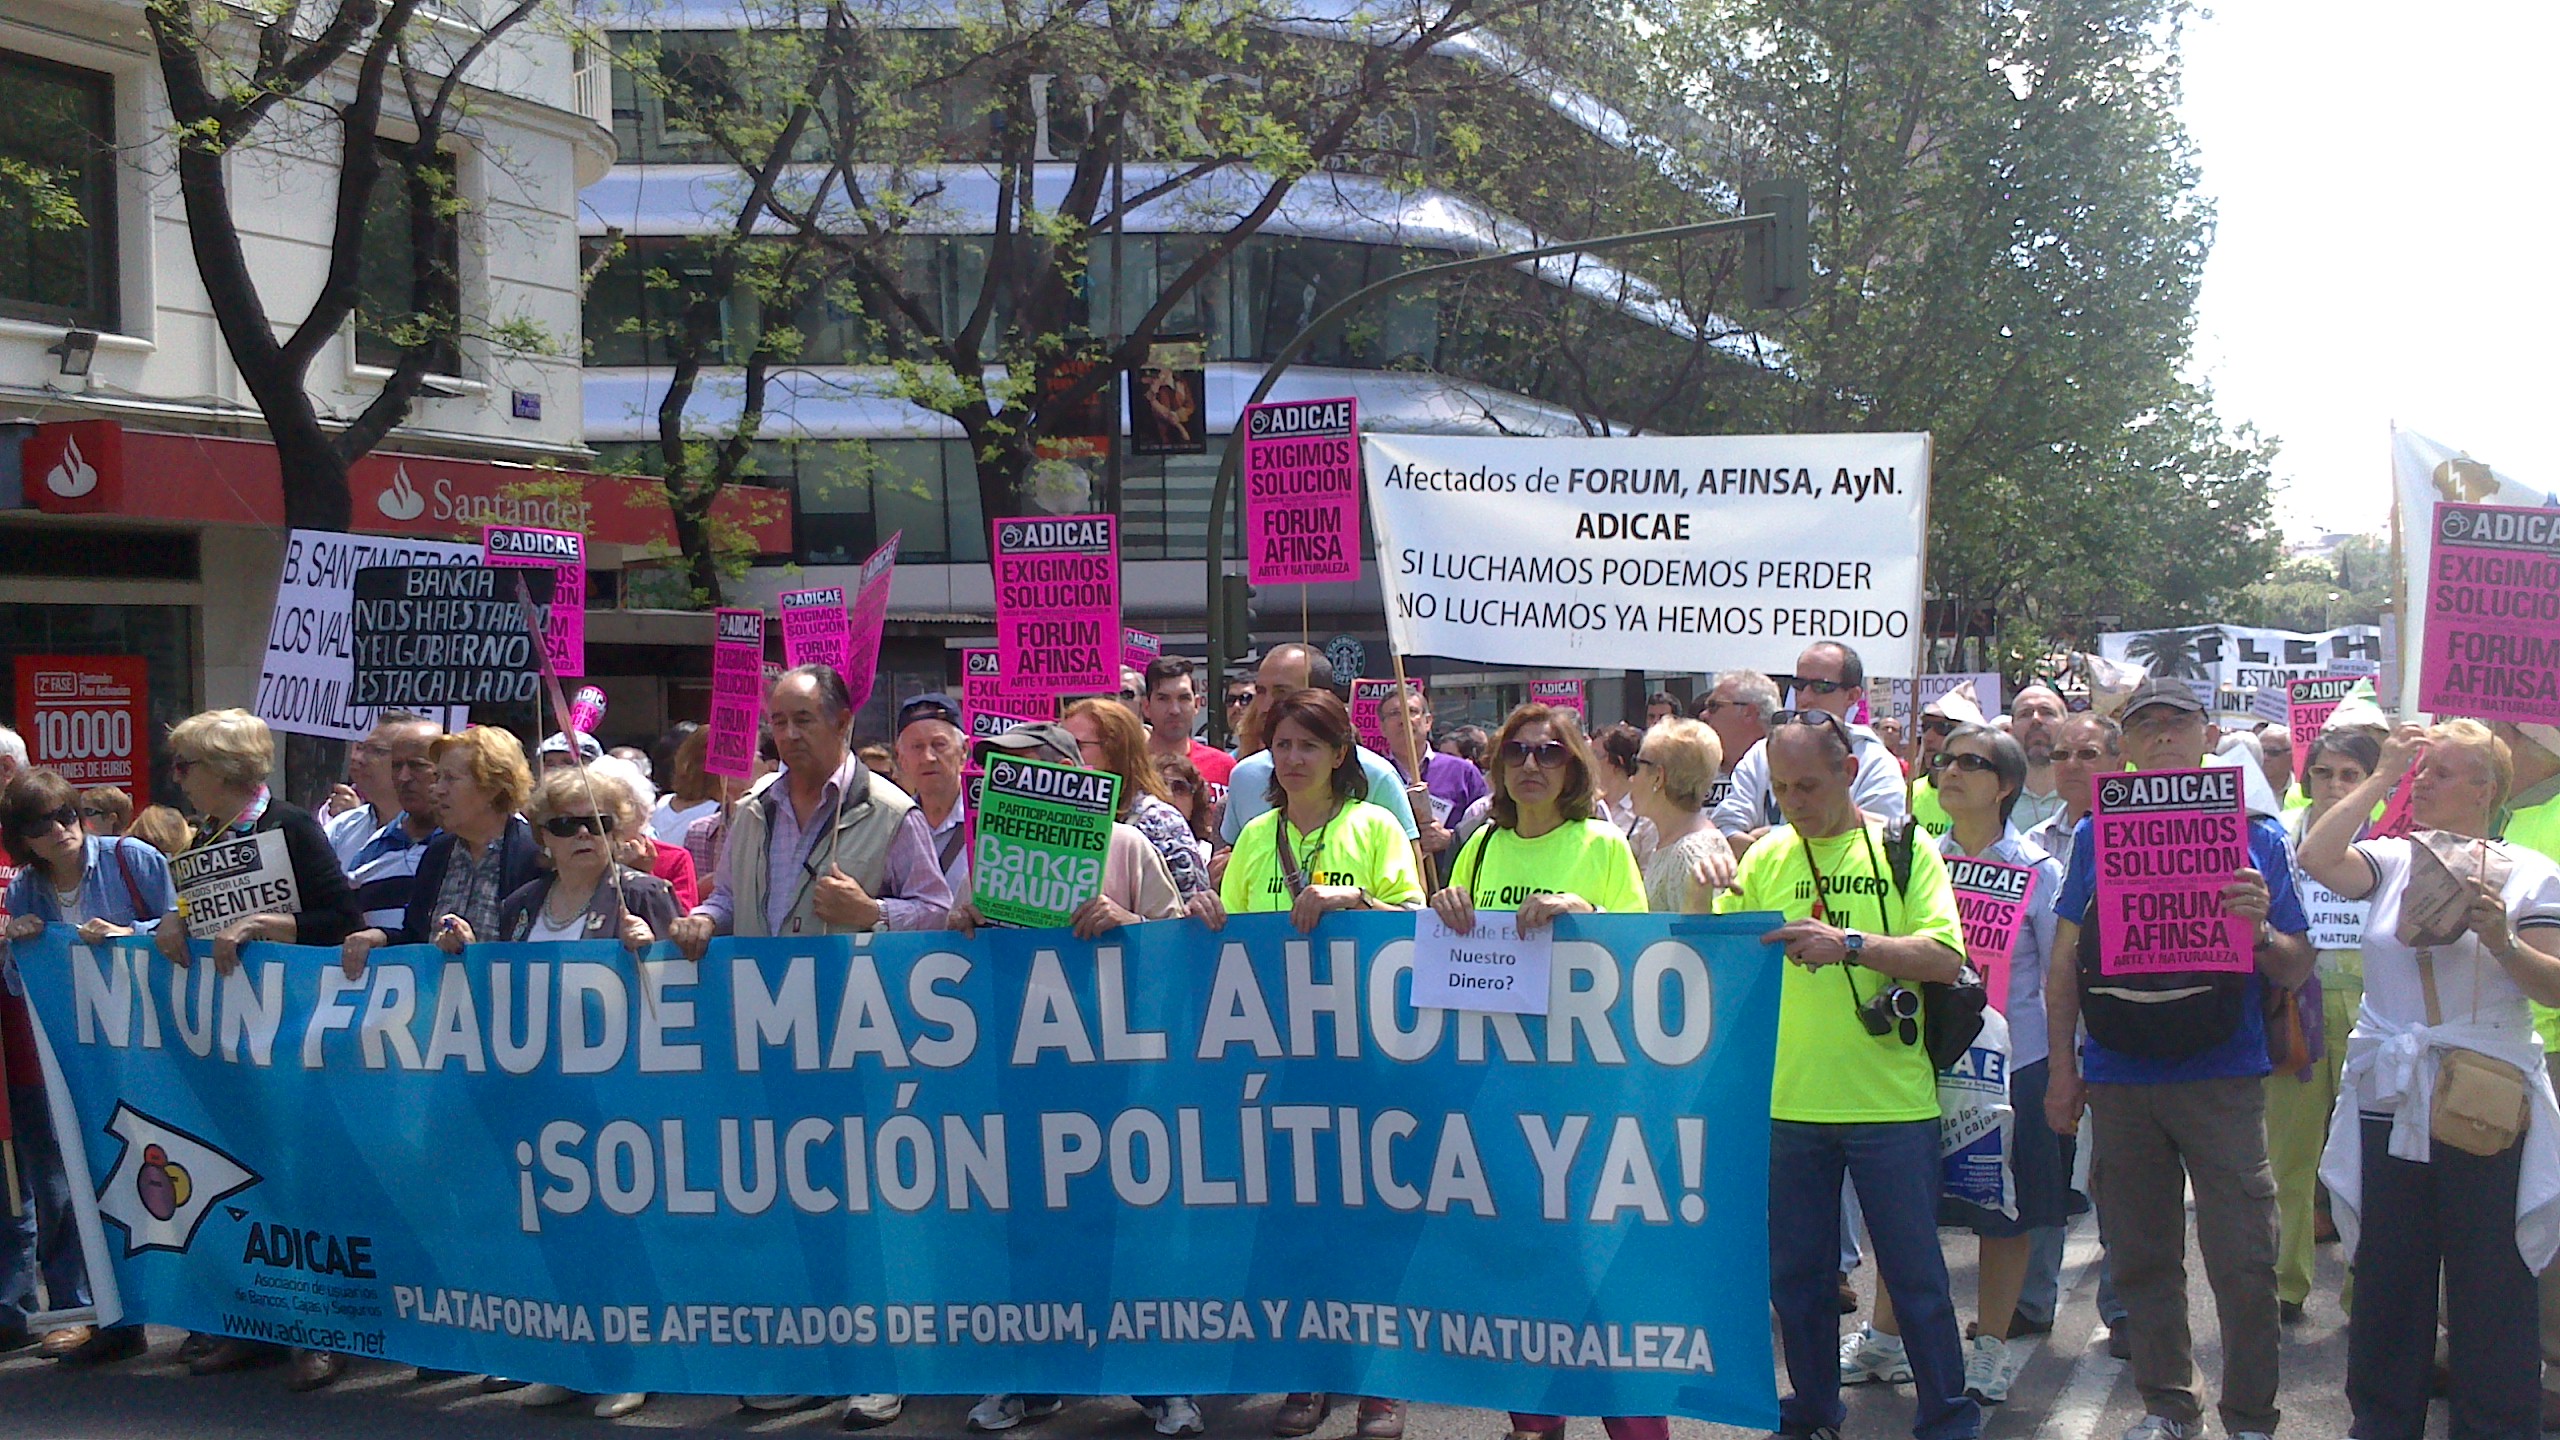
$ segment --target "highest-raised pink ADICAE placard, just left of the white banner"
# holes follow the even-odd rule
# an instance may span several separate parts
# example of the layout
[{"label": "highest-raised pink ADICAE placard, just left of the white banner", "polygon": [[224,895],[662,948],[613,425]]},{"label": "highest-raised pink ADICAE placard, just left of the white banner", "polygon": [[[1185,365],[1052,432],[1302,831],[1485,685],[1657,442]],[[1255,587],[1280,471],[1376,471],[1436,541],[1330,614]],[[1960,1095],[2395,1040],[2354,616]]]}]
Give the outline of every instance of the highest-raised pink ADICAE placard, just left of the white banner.
[{"label": "highest-raised pink ADICAE placard, just left of the white banner", "polygon": [[1244,579],[1359,579],[1359,402],[1244,407]]}]

